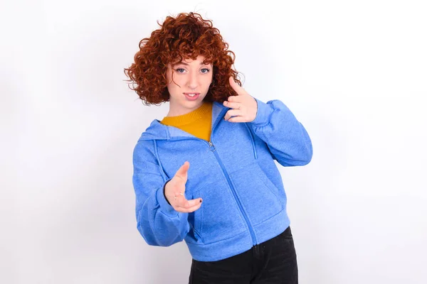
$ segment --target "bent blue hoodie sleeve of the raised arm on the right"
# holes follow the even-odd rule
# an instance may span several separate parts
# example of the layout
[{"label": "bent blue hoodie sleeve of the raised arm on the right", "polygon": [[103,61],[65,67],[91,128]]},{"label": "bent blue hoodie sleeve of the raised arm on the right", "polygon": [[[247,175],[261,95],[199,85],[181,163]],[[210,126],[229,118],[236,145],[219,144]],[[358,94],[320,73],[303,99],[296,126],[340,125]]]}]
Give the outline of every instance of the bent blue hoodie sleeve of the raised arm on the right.
[{"label": "bent blue hoodie sleeve of the raised arm on the right", "polygon": [[253,121],[249,122],[253,133],[270,149],[273,158],[283,166],[307,165],[312,159],[312,143],[304,126],[278,99],[261,102]]}]

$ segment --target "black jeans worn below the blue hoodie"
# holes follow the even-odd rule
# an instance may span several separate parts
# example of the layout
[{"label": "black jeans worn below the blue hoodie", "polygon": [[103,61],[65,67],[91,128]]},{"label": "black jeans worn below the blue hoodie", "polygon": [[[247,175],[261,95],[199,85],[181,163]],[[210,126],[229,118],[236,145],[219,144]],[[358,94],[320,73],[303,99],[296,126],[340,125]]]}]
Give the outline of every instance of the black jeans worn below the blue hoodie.
[{"label": "black jeans worn below the blue hoodie", "polygon": [[189,284],[297,284],[297,255],[290,227],[273,239],[221,261],[191,263]]}]

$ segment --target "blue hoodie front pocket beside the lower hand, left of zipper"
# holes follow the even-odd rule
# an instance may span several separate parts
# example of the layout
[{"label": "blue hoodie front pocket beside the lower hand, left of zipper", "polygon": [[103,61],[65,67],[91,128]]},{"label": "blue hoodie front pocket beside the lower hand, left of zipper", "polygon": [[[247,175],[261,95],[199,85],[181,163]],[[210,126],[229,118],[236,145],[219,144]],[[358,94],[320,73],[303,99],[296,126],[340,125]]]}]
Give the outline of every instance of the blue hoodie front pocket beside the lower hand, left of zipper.
[{"label": "blue hoodie front pocket beside the lower hand, left of zipper", "polygon": [[194,212],[194,230],[204,244],[231,238],[246,230],[235,198],[228,184],[214,182],[191,194],[191,198],[203,200]]}]

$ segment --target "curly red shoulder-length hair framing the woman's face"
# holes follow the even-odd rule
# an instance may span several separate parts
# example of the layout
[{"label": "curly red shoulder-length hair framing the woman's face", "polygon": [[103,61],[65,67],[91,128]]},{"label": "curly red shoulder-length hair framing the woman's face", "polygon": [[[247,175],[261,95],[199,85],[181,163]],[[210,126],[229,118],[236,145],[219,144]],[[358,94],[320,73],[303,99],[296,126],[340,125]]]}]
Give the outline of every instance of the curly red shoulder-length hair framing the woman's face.
[{"label": "curly red shoulder-length hair framing the woman's face", "polygon": [[[209,102],[223,102],[236,92],[228,82],[238,80],[238,72],[232,65],[236,55],[228,50],[226,43],[212,21],[204,20],[199,13],[179,13],[176,18],[167,16],[163,24],[157,21],[158,30],[149,38],[139,42],[135,62],[124,72],[132,82],[130,89],[137,92],[144,104],[160,104],[169,101],[167,90],[167,65],[181,62],[184,58],[195,60],[198,55],[205,57],[204,63],[214,66],[214,75],[209,91],[204,98]],[[136,85],[136,86],[135,86]]]}]

